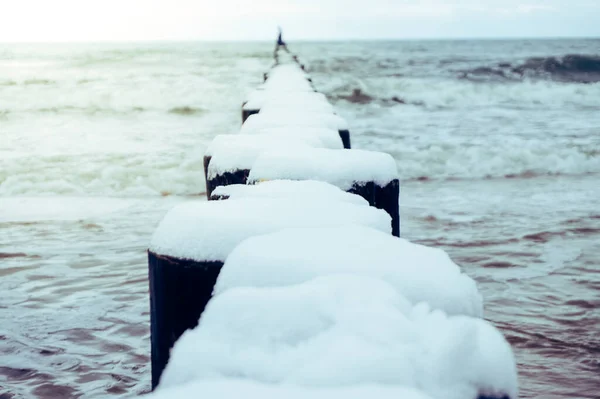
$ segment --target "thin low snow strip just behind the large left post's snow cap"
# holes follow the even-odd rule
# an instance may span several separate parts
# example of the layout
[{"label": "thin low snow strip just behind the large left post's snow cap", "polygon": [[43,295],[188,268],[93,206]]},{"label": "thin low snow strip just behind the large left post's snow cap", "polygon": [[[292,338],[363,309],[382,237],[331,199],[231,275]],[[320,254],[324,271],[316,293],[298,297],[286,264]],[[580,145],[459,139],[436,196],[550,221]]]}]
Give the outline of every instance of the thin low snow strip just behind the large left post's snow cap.
[{"label": "thin low snow strip just behind the large left post's snow cap", "polygon": [[319,199],[323,201],[350,202],[355,205],[369,205],[362,197],[350,194],[324,182],[312,180],[273,180],[256,185],[232,184],[219,186],[213,193],[229,199],[240,198],[290,198],[298,201]]}]

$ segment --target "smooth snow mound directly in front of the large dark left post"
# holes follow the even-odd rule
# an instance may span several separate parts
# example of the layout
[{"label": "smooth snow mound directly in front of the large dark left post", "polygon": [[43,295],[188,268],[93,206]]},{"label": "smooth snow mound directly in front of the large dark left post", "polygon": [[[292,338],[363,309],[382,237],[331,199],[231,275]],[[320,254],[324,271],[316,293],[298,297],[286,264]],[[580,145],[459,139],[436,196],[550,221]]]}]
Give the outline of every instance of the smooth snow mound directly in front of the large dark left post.
[{"label": "smooth snow mound directly in front of the large dark left post", "polygon": [[427,302],[450,315],[483,314],[475,282],[446,252],[361,226],[285,229],[251,237],[227,257],[215,293],[295,285],[336,273],[381,278],[412,304]]}]

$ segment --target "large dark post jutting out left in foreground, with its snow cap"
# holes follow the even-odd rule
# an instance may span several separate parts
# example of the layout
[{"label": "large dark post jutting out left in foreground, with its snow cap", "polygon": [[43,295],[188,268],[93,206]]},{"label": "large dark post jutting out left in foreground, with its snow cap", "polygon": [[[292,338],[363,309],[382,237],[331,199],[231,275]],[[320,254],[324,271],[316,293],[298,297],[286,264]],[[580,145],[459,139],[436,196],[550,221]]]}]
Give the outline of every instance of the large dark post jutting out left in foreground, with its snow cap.
[{"label": "large dark post jutting out left in foreground, with its snow cap", "polygon": [[287,227],[348,224],[390,231],[385,212],[327,199],[192,201],[173,208],[148,251],[152,387],[158,385],[175,341],[197,326],[223,262],[237,244]]}]

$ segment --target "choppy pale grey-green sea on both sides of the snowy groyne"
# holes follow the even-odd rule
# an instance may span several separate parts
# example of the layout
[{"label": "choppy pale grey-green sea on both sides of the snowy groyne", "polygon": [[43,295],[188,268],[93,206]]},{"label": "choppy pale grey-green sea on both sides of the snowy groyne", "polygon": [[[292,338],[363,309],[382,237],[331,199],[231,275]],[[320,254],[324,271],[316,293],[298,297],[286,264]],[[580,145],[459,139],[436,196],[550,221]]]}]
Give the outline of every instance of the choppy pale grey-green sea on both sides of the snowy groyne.
[{"label": "choppy pale grey-green sea on both sides of the snowy groyne", "polygon": [[[522,398],[600,398],[600,40],[289,43],[475,278]],[[146,249],[272,43],[0,44],[0,398],[149,390]]]}]

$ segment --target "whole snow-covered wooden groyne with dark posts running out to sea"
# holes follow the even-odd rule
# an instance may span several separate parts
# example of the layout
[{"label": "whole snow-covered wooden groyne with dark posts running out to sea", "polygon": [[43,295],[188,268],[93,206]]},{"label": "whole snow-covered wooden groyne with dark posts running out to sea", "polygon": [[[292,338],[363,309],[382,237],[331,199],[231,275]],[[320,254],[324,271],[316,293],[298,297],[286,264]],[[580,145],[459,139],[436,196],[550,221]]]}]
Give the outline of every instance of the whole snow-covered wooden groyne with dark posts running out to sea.
[{"label": "whole snow-covered wooden groyne with dark posts running out to sea", "polygon": [[[356,322],[340,324],[340,331],[348,328],[348,336],[355,337],[357,342],[374,340],[367,345],[378,348],[371,349],[372,353],[380,350],[385,353],[386,345],[390,345],[388,349],[394,355],[381,357],[379,362],[382,365],[392,362],[385,367],[393,368],[394,361],[402,363],[401,359],[411,359],[406,363],[414,365],[410,373],[423,374],[417,375],[415,381],[431,380],[432,386],[437,387],[436,384],[441,384],[438,380],[446,378],[442,376],[450,373],[452,367],[448,367],[455,362],[466,370],[449,377],[451,383],[460,385],[460,389],[450,388],[452,392],[465,392],[460,398],[516,399],[512,352],[502,336],[480,319],[482,302],[475,283],[462,274],[443,251],[399,238],[400,181],[395,160],[386,153],[351,149],[350,143],[347,122],[335,112],[327,98],[316,91],[297,57],[287,53],[280,55],[265,73],[263,84],[242,104],[239,133],[217,136],[206,151],[207,201],[175,207],[152,238],[148,256],[153,389],[159,383],[168,388],[196,381],[196,378],[202,380],[206,375],[245,379],[254,376],[258,381],[270,383],[285,381],[279,370],[273,375],[265,371],[267,374],[261,377],[260,371],[247,368],[250,367],[245,361],[248,359],[235,360],[228,351],[240,346],[240,338],[228,341],[233,338],[228,338],[227,329],[241,328],[240,320],[244,320],[243,328],[249,330],[242,347],[263,353],[261,345],[267,345],[267,359],[275,356],[273,353],[281,345],[291,345],[282,337],[295,342],[299,337],[310,335],[308,330],[303,330],[302,322],[292,322],[286,319],[286,314],[300,310],[302,314],[313,314],[313,310],[315,314],[333,312],[331,320],[339,321],[345,320],[348,312],[355,309]],[[337,305],[327,305],[325,299],[325,302],[315,302],[298,288],[305,286],[311,287],[309,292],[324,295],[324,298],[328,297],[328,290],[333,290]],[[240,287],[246,288],[239,291]],[[273,303],[255,301],[265,295],[272,295]],[[296,305],[282,310],[290,297],[295,298]],[[227,306],[232,303],[237,304],[231,308],[235,311],[219,310],[220,307],[230,309]],[[416,304],[427,305],[421,309]],[[412,306],[421,309],[424,316],[419,317],[431,320],[423,324],[411,321],[411,317],[416,317],[411,316],[416,311]],[[212,312],[208,319],[207,312]],[[282,321],[264,319],[270,312],[273,315],[283,312]],[[441,317],[439,312],[449,316]],[[340,316],[342,314],[346,316]],[[310,319],[312,316],[302,317]],[[363,317],[367,325],[375,326],[369,333],[371,338],[361,332]],[[387,326],[392,323],[390,320],[399,325],[405,323],[405,327]],[[437,327],[432,327],[434,324]],[[389,342],[388,327],[398,334],[397,339]],[[221,333],[211,332],[211,328]],[[265,343],[252,338],[269,335],[278,328],[284,331],[271,339],[284,340],[281,345],[271,347],[269,340]],[[304,332],[294,332],[294,328]],[[320,331],[319,328],[325,327],[315,331]],[[471,345],[464,349],[464,356],[453,354],[447,349],[448,343],[432,344],[417,339],[432,334],[431,337],[446,342],[461,328],[469,331],[472,341],[472,345],[461,341],[461,345]],[[411,333],[414,338],[406,338],[409,330],[415,331]],[[213,346],[202,336],[204,331],[212,337]],[[244,335],[243,331],[233,332]],[[341,334],[339,339],[343,341],[346,333]],[[482,337],[485,342],[481,341]],[[337,345],[339,339],[332,338],[328,345]],[[402,340],[408,340],[407,344],[398,347],[396,341]],[[414,351],[410,349],[410,342],[416,348]],[[486,345],[500,349],[491,350]],[[172,353],[174,347],[176,351]],[[207,354],[215,351],[214,347],[229,349],[218,356],[210,355],[220,359],[219,365],[203,374],[202,370],[210,368],[210,359],[216,359]],[[318,358],[327,352],[328,346],[323,348],[311,353]],[[370,355],[365,354],[371,352],[361,352],[355,358],[352,349],[348,348],[347,359],[341,359],[340,364],[347,361],[355,365],[340,366],[341,371],[333,371],[335,375],[343,375],[342,380],[353,375],[344,374],[346,369],[365,367],[366,370],[376,365]],[[435,355],[428,355],[428,351]],[[203,353],[207,358],[203,358]],[[202,367],[190,367],[196,359],[194,356],[199,356],[197,361]],[[361,356],[371,360],[364,360],[361,366]],[[437,359],[435,362],[441,364],[441,371],[436,371],[433,365],[432,370],[423,368],[420,362],[433,361],[428,356]],[[268,368],[269,362],[265,362],[260,369]],[[223,366],[225,363],[227,366]],[[406,364],[402,367],[409,367]],[[478,371],[478,367],[484,371]],[[221,375],[222,370],[228,371]],[[381,375],[373,374],[371,380],[365,379],[362,377],[365,370],[356,374],[356,378],[366,383],[405,381],[400,377],[384,378],[390,370],[382,371]],[[502,370],[502,378],[496,378],[498,370]],[[402,391],[401,396],[425,398],[412,389]],[[435,393],[436,389],[427,388],[424,392]],[[413,394],[416,396],[411,396]],[[389,397],[397,395],[398,392]]]}]

